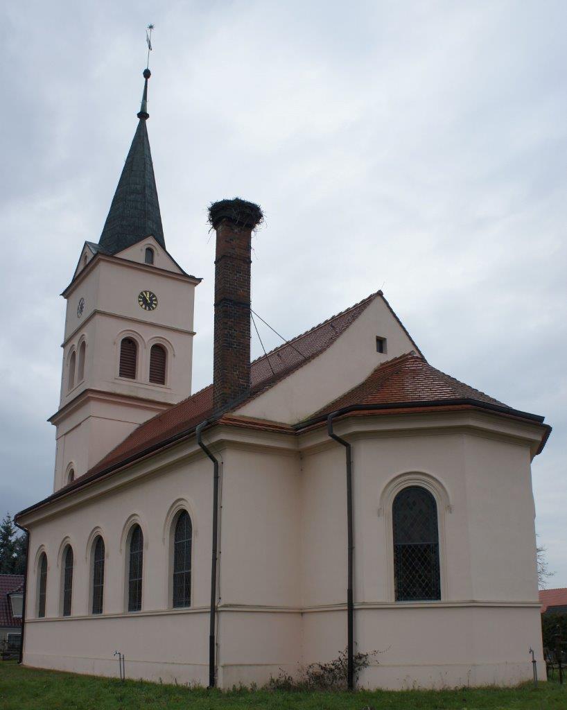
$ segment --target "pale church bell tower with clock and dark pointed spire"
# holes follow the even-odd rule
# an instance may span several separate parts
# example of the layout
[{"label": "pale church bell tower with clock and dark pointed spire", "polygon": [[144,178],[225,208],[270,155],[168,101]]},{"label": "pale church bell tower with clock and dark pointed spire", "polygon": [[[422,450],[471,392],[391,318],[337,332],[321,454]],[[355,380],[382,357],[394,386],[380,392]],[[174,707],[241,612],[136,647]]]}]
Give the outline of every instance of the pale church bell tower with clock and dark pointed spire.
[{"label": "pale church bell tower with clock and dark pointed spire", "polygon": [[145,420],[191,394],[194,290],[165,247],[148,139],[138,126],[98,244],[87,241],[67,300],[54,491]]}]

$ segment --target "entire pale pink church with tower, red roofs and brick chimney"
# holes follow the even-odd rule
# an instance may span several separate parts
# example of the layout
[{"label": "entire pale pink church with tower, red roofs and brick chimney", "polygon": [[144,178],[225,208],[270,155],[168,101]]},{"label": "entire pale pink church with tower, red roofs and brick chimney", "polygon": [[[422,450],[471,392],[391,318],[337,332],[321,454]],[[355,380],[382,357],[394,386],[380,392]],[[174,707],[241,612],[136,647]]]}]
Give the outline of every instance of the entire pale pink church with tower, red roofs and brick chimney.
[{"label": "entire pale pink church with tower, red roofs and brick chimney", "polygon": [[214,378],[192,393],[200,279],[167,251],[144,77],[62,292],[53,493],[16,517],[23,663],[116,676],[119,651],[126,677],[227,688],[346,650],[351,687],[530,679],[544,417],[429,364],[380,290],[251,362],[262,212],[239,199],[209,209]]}]

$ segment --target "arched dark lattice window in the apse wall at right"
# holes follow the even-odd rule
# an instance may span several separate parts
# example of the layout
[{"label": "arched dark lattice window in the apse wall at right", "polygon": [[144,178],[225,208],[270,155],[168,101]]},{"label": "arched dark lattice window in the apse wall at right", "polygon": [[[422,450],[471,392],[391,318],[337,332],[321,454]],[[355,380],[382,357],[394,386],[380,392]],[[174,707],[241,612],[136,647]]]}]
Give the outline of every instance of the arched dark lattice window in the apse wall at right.
[{"label": "arched dark lattice window in the apse wall at right", "polygon": [[408,486],[392,506],[396,601],[441,599],[439,530],[435,498]]}]

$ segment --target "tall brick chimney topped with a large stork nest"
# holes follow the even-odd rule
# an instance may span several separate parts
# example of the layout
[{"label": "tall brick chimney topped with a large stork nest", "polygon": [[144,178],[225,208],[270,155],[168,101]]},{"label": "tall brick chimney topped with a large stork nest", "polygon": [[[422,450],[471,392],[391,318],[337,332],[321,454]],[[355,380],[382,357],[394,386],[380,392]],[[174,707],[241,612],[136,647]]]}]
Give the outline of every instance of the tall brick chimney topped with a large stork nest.
[{"label": "tall brick chimney topped with a large stork nest", "polygon": [[250,389],[250,274],[252,230],[262,210],[236,197],[209,207],[216,231],[214,270],[214,407]]}]

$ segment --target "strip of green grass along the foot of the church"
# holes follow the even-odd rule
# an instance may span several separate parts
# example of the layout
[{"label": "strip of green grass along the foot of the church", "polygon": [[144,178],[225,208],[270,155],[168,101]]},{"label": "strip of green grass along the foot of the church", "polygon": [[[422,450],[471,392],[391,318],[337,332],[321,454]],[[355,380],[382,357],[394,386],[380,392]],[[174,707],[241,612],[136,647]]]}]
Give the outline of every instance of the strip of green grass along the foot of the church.
[{"label": "strip of green grass along the foot of the church", "polygon": [[157,685],[22,668],[0,662],[1,710],[564,710],[567,685],[541,683],[518,688],[360,691],[348,693],[271,692]]}]

